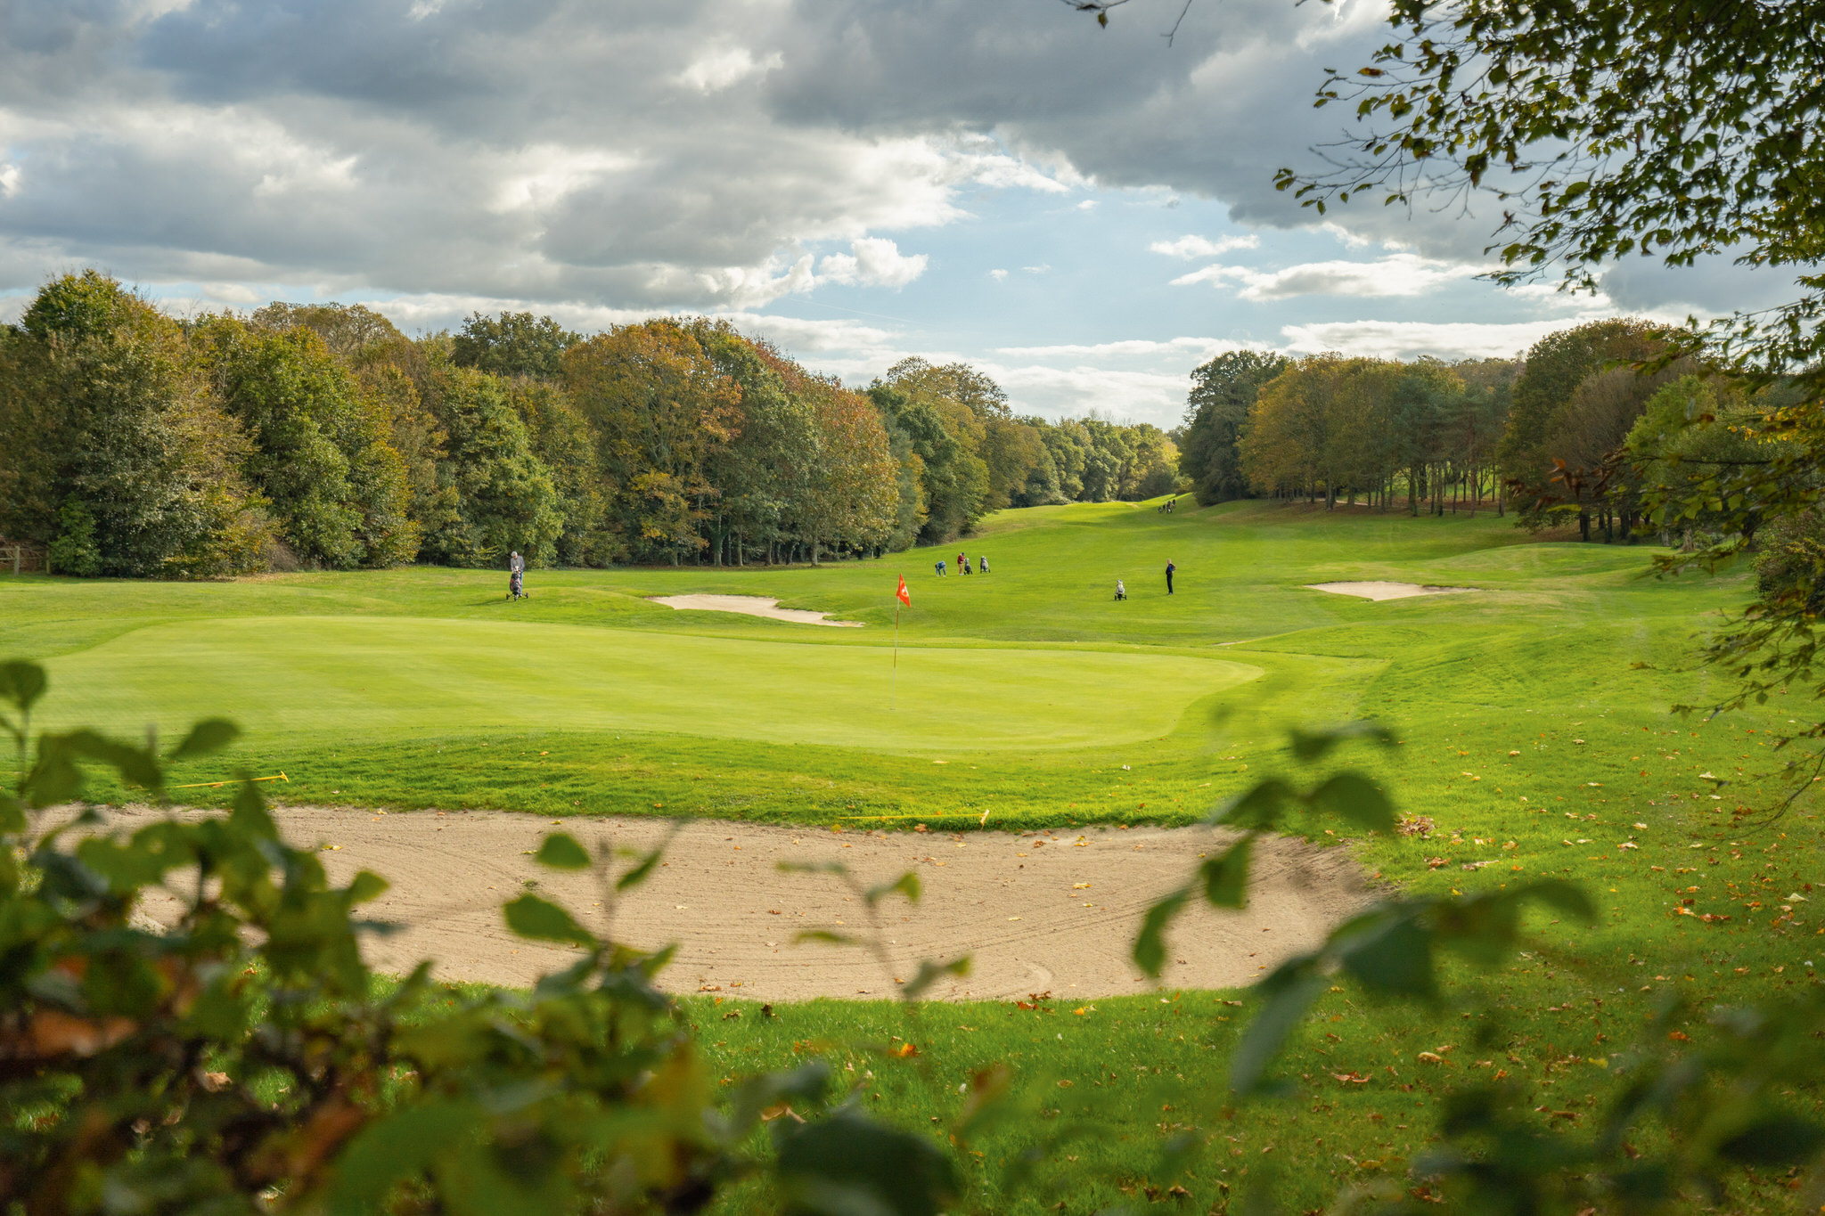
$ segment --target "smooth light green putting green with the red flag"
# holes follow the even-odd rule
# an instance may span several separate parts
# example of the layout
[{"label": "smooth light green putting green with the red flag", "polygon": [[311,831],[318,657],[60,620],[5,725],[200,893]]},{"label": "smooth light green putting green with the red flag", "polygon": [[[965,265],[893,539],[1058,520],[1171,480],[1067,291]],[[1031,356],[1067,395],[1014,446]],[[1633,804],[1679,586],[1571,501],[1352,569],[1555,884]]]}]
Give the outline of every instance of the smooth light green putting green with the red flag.
[{"label": "smooth light green putting green with the red flag", "polygon": [[553,623],[245,616],[133,629],[51,660],[58,724],[256,738],[668,731],[871,749],[1153,738],[1248,664],[1058,649],[900,651]]}]

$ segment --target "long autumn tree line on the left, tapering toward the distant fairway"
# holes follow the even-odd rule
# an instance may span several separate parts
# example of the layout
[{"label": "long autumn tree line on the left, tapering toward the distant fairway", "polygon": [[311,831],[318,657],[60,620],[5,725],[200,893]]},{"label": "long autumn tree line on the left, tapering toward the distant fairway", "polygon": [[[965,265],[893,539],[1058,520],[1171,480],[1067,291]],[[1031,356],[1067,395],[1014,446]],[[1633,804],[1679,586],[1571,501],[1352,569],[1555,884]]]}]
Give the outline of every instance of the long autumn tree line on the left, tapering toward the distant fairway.
[{"label": "long autumn tree line on the left, tapering toward the distant fairway", "polygon": [[93,270],[0,326],[0,536],[64,574],[821,562],[1177,487],[1150,425],[1017,417],[967,365],[845,388],[726,321],[575,334],[360,304],[175,319]]}]

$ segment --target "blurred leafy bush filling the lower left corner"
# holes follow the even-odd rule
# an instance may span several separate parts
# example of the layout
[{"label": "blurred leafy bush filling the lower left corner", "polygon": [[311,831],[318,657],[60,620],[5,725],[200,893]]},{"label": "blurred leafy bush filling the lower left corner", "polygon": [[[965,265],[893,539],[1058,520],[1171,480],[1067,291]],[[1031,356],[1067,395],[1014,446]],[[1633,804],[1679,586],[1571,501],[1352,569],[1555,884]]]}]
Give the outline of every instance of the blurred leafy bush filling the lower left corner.
[{"label": "blurred leafy bush filling the lower left corner", "polygon": [[[22,753],[42,691],[42,669],[0,667]],[[80,795],[84,764],[157,797],[168,762],[234,733],[203,722],[162,757],[44,735],[0,795],[0,1211],[688,1212],[757,1170],[803,1211],[931,1212],[949,1196],[933,1145],[821,1105],[819,1061],[719,1103],[652,986],[666,953],[537,895],[506,906],[509,926],[579,955],[531,994],[436,984],[429,964],[383,992],[360,950],[380,926],[358,908],[385,882],[330,886],[252,784],[223,819],[35,831]],[[540,860],[628,890],[657,859],[611,877],[611,859],[553,833]],[[164,932],[135,917],[159,890],[181,904]],[[763,1163],[748,1141],[768,1118]]]}]

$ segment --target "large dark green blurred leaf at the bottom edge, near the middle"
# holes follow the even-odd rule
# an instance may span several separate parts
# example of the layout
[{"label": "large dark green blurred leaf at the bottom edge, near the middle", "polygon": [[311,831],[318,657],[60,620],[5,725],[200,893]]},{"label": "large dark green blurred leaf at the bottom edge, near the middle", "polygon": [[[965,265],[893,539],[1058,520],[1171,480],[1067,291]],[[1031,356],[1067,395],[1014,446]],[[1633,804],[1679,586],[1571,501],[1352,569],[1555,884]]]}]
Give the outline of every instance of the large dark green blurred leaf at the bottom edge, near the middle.
[{"label": "large dark green blurred leaf at the bottom edge, near the middle", "polygon": [[779,1128],[779,1189],[794,1216],[936,1216],[958,1194],[956,1169],[931,1141],[843,1107]]}]

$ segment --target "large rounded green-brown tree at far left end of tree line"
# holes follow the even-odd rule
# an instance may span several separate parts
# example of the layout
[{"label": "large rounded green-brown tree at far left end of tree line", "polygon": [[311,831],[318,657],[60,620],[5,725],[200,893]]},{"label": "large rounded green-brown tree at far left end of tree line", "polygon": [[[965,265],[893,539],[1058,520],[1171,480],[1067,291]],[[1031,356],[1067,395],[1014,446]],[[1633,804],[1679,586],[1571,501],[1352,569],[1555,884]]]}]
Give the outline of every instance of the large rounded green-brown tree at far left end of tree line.
[{"label": "large rounded green-brown tree at far left end of tree line", "polygon": [[250,445],[175,321],[95,270],[47,283],[0,332],[0,532],[68,572],[235,574],[272,525]]}]

